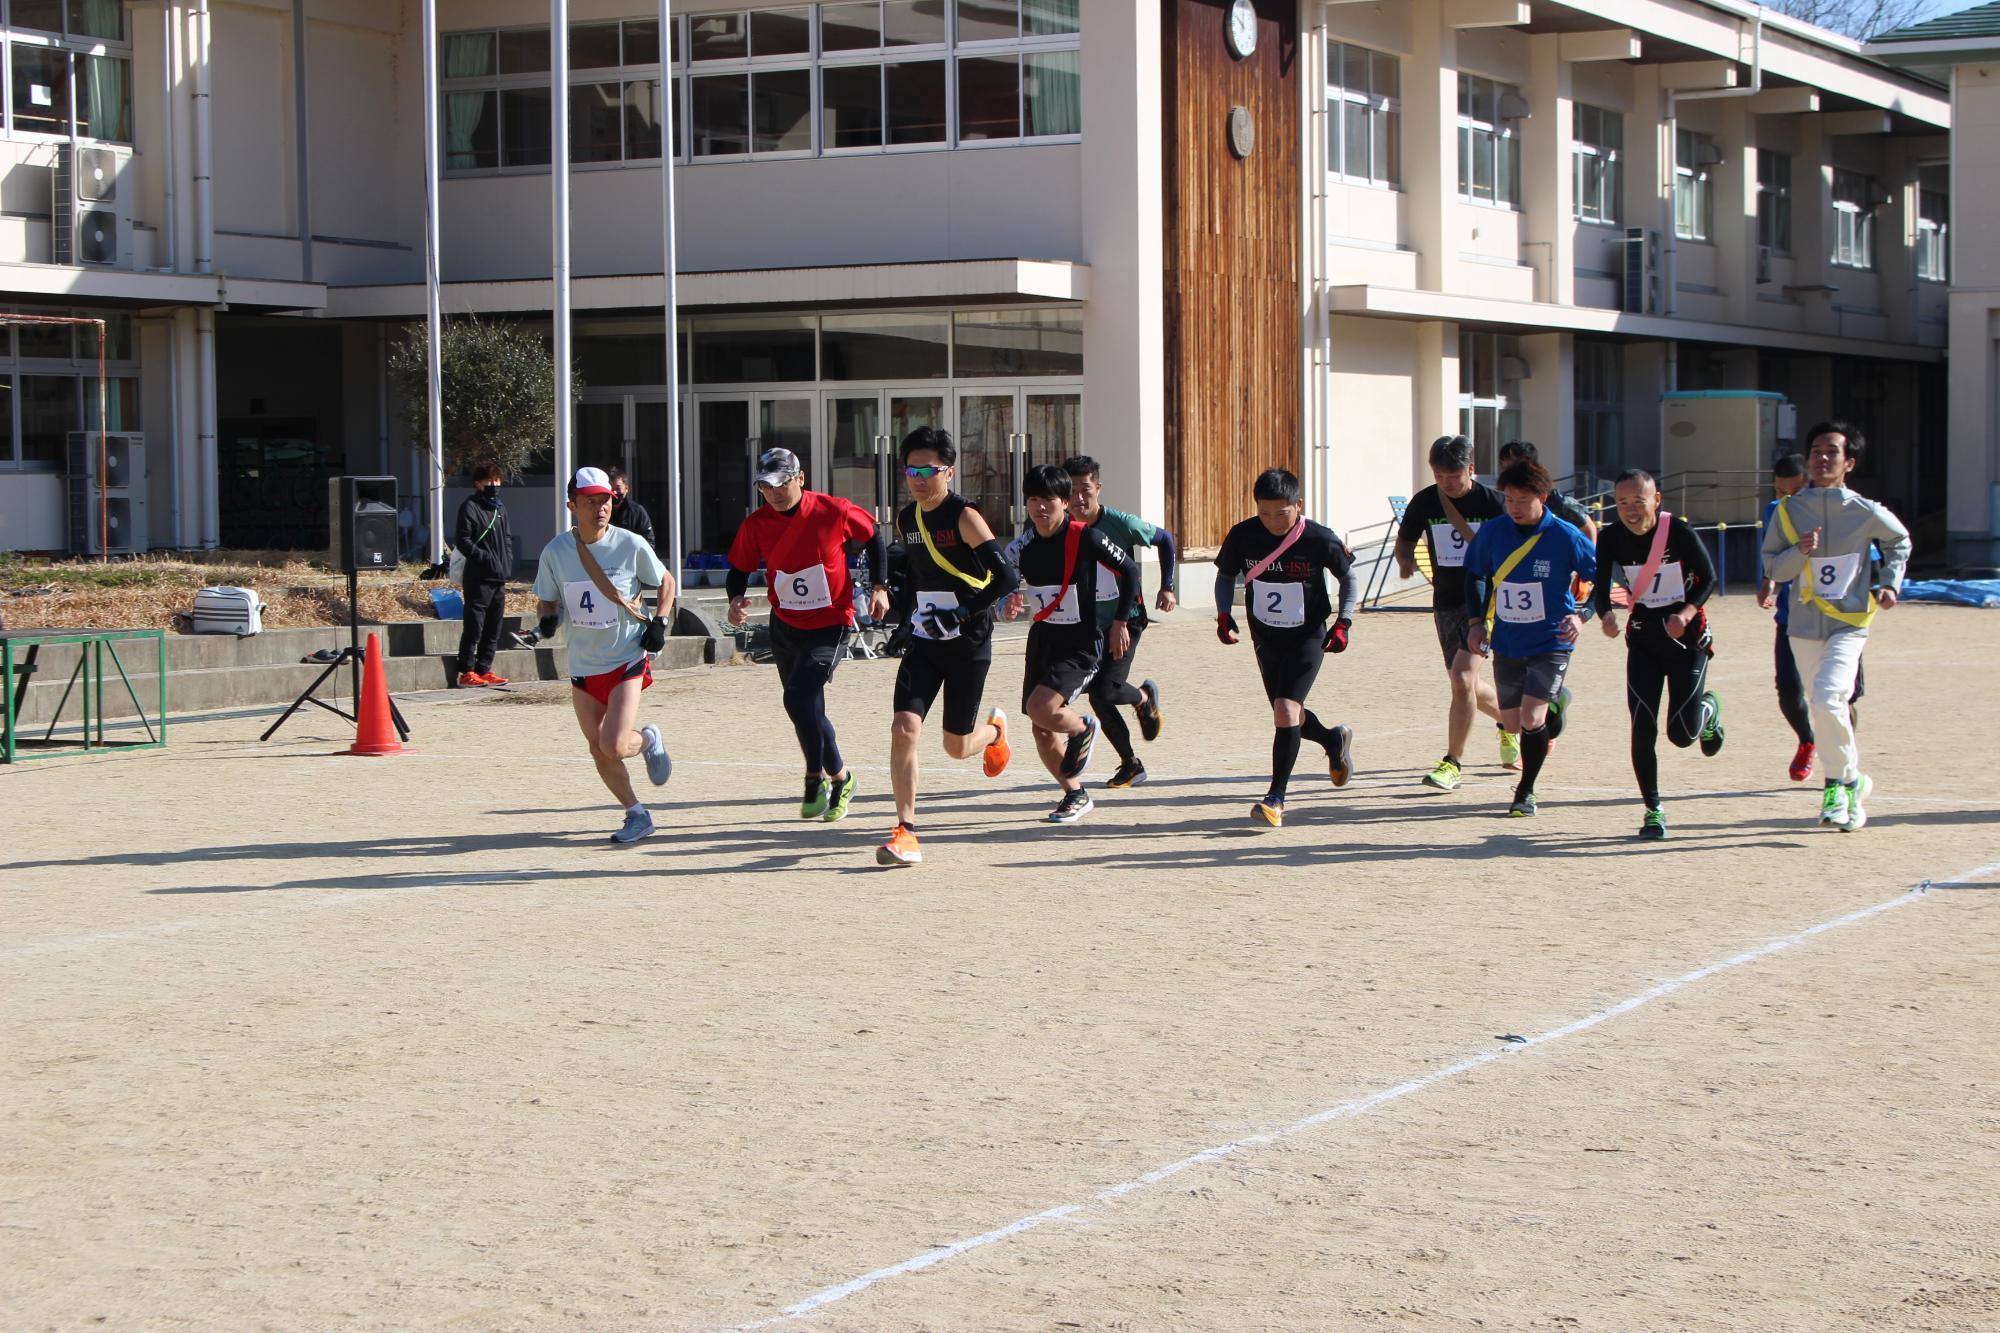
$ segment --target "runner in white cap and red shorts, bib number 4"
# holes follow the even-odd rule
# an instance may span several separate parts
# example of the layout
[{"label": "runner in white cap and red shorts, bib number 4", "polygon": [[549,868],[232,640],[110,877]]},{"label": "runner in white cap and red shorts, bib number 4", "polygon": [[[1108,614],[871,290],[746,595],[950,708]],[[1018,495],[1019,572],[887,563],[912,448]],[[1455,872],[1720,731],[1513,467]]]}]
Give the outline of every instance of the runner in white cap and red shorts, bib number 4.
[{"label": "runner in white cap and red shorts, bib number 4", "polygon": [[[624,807],[624,827],[612,843],[652,837],[652,815],[640,805],[624,761],[646,757],[646,777],[662,787],[674,773],[660,729],[632,729],[638,697],[652,685],[652,654],[666,642],[666,608],[674,576],[636,532],[612,526],[612,482],[602,468],[576,468],[570,480],[570,516],[576,526],[542,546],[534,572],[542,638],[568,620],[570,707],[590,743],[590,759],[604,787]],[[654,614],[638,604],[640,588],[658,584]]]}]

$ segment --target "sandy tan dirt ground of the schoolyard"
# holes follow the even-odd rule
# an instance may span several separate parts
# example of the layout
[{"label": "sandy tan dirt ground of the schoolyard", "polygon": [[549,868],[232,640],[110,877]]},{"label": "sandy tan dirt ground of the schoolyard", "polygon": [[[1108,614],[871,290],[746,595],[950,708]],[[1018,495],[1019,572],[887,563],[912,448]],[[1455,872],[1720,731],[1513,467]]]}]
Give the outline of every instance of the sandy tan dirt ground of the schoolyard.
[{"label": "sandy tan dirt ground of the schoolyard", "polygon": [[906,871],[894,662],[832,689],[842,825],[768,666],[650,693],[636,849],[560,689],[410,701],[396,759],[242,717],[0,773],[0,1325],[2000,1327],[2000,616],[1880,620],[1852,837],[1768,618],[1716,620],[1662,845],[1594,626],[1542,817],[1486,727],[1426,795],[1422,614],[1322,673],[1360,775],[1308,745],[1280,831],[1250,648],[1188,614],[1148,787],[1050,827],[1026,745],[926,735]]}]

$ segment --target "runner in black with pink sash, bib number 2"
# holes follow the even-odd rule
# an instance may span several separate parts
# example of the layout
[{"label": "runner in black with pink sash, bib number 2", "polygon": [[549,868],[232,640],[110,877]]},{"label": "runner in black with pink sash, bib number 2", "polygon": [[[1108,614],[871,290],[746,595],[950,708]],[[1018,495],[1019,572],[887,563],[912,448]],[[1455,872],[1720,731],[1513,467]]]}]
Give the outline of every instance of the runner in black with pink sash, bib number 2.
[{"label": "runner in black with pink sash, bib number 2", "polygon": [[[1284,793],[1298,763],[1298,743],[1326,751],[1334,787],[1354,775],[1354,729],[1326,727],[1306,709],[1306,695],[1328,652],[1348,650],[1360,582],[1354,556],[1332,528],[1306,518],[1298,478],[1268,468],[1256,478],[1256,518],[1244,518],[1216,554],[1216,638],[1236,642],[1236,576],[1244,580],[1244,610],[1258,675],[1270,701],[1276,735],[1270,743],[1270,791],[1250,807],[1250,819],[1284,825]],[[1340,580],[1340,612],[1326,596],[1326,574]],[[1326,628],[1332,618],[1334,626]]]}]

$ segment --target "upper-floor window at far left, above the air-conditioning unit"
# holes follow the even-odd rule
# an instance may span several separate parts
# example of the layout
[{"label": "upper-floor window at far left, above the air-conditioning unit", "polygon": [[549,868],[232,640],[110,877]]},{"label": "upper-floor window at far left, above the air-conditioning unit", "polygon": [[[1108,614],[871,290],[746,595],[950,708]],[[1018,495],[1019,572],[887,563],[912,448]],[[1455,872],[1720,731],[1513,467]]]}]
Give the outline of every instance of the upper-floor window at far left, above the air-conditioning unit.
[{"label": "upper-floor window at far left, above the air-conditioning unit", "polygon": [[14,0],[8,22],[8,132],[132,142],[122,0]]}]

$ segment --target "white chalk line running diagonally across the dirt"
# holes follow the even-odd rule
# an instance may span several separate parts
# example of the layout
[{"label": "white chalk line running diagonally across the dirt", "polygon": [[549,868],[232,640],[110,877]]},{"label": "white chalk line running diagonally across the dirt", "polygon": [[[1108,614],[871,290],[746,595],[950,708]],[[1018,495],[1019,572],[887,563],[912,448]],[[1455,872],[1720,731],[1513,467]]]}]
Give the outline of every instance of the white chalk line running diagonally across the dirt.
[{"label": "white chalk line running diagonally across the dirt", "polygon": [[1772,957],[1776,953],[1784,953],[1786,949],[1794,949],[1798,945],[1804,945],[1806,941],[1810,941],[1816,935],[1824,935],[1828,931],[1838,931],[1838,929],[1850,927],[1850,925],[1860,925],[1862,921],[1868,921],[1872,917],[1880,917],[1882,913],[1894,911],[1898,907],[1908,907],[1910,903],[1920,901],[1930,889],[1948,889],[1948,887],[1954,887],[1954,885],[1980,881],[1986,875],[1992,875],[1994,871],[2000,871],[2000,861],[1996,861],[1992,865],[1982,865],[1982,867],[1978,867],[1974,871],[1966,871],[1964,875],[1954,875],[1948,881],[1940,881],[1940,883],[1924,881],[1920,887],[1910,889],[1908,893],[1900,893],[1894,899],[1886,899],[1882,903],[1876,903],[1874,907],[1862,907],[1860,911],[1852,911],[1852,913],[1846,913],[1842,917],[1834,917],[1830,921],[1822,921],[1818,925],[1806,927],[1804,931],[1798,931],[1794,935],[1786,935],[1782,939],[1774,939],[1774,941],[1770,941],[1766,945],[1758,945],[1756,949],[1746,949],[1744,953],[1738,953],[1736,957],[1724,959],[1720,963],[1710,963],[1708,967],[1700,967],[1700,969],[1696,969],[1692,973],[1682,973],[1680,977],[1674,977],[1672,981],[1662,981],[1660,985],[1650,987],[1646,991],[1640,991],[1638,995],[1634,995],[1630,999],[1618,1001],[1616,1005],[1610,1005],[1608,1009],[1598,1009],[1596,1013],[1590,1013],[1590,1015],[1586,1015],[1582,1019],[1576,1019],[1574,1023],[1564,1023],[1562,1027],[1548,1029],[1546,1033],[1536,1033],[1534,1037],[1528,1037],[1526,1041],[1512,1043],[1508,1047],[1496,1047],[1496,1049],[1490,1049],[1490,1051],[1480,1051],[1476,1055],[1468,1055],[1466,1059],[1458,1061],[1456,1065],[1446,1065],[1444,1069],[1436,1069],[1436,1071],[1432,1071],[1428,1075],[1420,1075],[1420,1077],[1410,1079],[1406,1083],[1398,1083],[1396,1087],[1386,1087],[1386,1089],[1382,1089],[1378,1093],[1370,1093],[1370,1095],[1358,1097],[1354,1101],[1344,1101],[1344,1103],[1338,1103],[1334,1107],[1326,1107],[1324,1111],[1314,1111],[1312,1115],[1308,1115],[1304,1119],[1298,1119],[1298,1121],[1292,1121],[1290,1125],[1284,1125],[1280,1129],[1272,1129],[1272,1131],[1260,1133],[1260,1135],[1248,1135],[1244,1139],[1234,1139],[1230,1143],[1220,1143],[1216,1147],[1202,1149],[1200,1153],[1192,1153],[1188,1157],[1182,1157],[1180,1161],[1172,1161],[1172,1163],[1168,1163],[1164,1167],[1156,1167],[1154,1171],[1148,1171],[1146,1175],[1134,1177],[1134,1179],[1124,1181],[1120,1185],[1112,1185],[1110,1189],[1102,1189],[1096,1195],[1092,1195],[1086,1203],[1064,1203],[1060,1207],[1044,1209],[1040,1213],[1030,1213],[1028,1217],[1016,1219],[1016,1221],[1012,1221],[1012,1223],[1008,1223],[1004,1227],[996,1227],[992,1231],[984,1231],[980,1235],[966,1237],[962,1241],[950,1241],[948,1245],[938,1245],[934,1249],[924,1251],[922,1255],[916,1255],[912,1259],[904,1259],[902,1263],[892,1263],[888,1267],[874,1269],[872,1273],[862,1273],[860,1277],[844,1281],[838,1287],[824,1287],[824,1289],[814,1291],[812,1295],[804,1297],[802,1301],[794,1301],[792,1305],[786,1305],[780,1313],[776,1313],[776,1315],[772,1315],[768,1319],[756,1319],[752,1323],[734,1325],[730,1329],[730,1333],[750,1333],[752,1329],[768,1329],[774,1323],[782,1323],[786,1319],[798,1319],[802,1315],[810,1315],[810,1313],[820,1311],[820,1309],[824,1309],[828,1305],[834,1305],[836,1301],[844,1301],[850,1295],[866,1291],[868,1287],[874,1287],[876,1283],[884,1283],[884,1281],[890,1281],[894,1277],[906,1277],[910,1273],[920,1273],[920,1271],[924,1271],[928,1267],[944,1263],[946,1259],[956,1259],[958,1255],[964,1255],[968,1251],[982,1249],[986,1245],[996,1245],[1000,1241],[1006,1241],[1006,1239],[1012,1239],[1016,1235],[1034,1231],[1036,1227],[1044,1227],[1044,1225],[1048,1225],[1052,1221],[1060,1221],[1064,1217],[1074,1217],[1076,1213],[1082,1213],[1084,1209],[1088,1209],[1092,1205],[1112,1203],[1114,1199],[1122,1199],[1126,1195],[1132,1195],[1132,1193],[1138,1193],[1138,1191],[1148,1189],[1152,1185],[1158,1185],[1160,1181],[1166,1181],[1166,1179],[1170,1179],[1174,1175],[1180,1175],[1182,1171],[1188,1171],[1190,1167],[1202,1167],[1202,1165],[1208,1165],[1212,1161],[1220,1161],[1224,1157],[1234,1157],[1236,1153],[1242,1153],[1246,1149],[1268,1147],[1272,1143],[1280,1143],[1284,1139],[1300,1135],[1300,1133],[1304,1133],[1308,1129],[1316,1129],[1320,1125],[1328,1125],[1332,1121],[1346,1121],[1346,1119],[1354,1119],[1354,1117],[1366,1115],[1370,1111],[1376,1111],[1378,1107],[1386,1107],[1392,1101],[1400,1101],[1400,1099],[1410,1097],[1414,1093],[1422,1093],[1428,1087],[1434,1087],[1434,1085],[1444,1083],[1448,1079],[1456,1079],[1458,1075],[1464,1075],[1464,1073],[1470,1073],[1474,1069],[1480,1069],[1482,1065],[1490,1065],[1490,1063],[1494,1063],[1494,1061],[1498,1061],[1498,1059],[1502,1059],[1502,1057],[1506,1057],[1506,1055],[1510,1055],[1514,1051],[1548,1045],[1552,1041],[1562,1041],[1564,1037],[1574,1037],[1578,1033],[1590,1031],[1592,1027],[1598,1027],[1600,1023],[1610,1023],[1612,1019],[1628,1015],[1634,1009],[1640,1009],[1642,1005],[1650,1005],[1656,999],[1666,999],[1668,995],[1674,995],[1676,991],[1680,991],[1684,987],[1690,987],[1690,985],[1694,985],[1698,981],[1708,981],[1710,977],[1716,977],[1720,973],[1726,973],[1726,971],[1732,971],[1732,969],[1738,969],[1738,967],[1746,967],[1750,963],[1758,963],[1762,959],[1768,959],[1768,957]]}]

